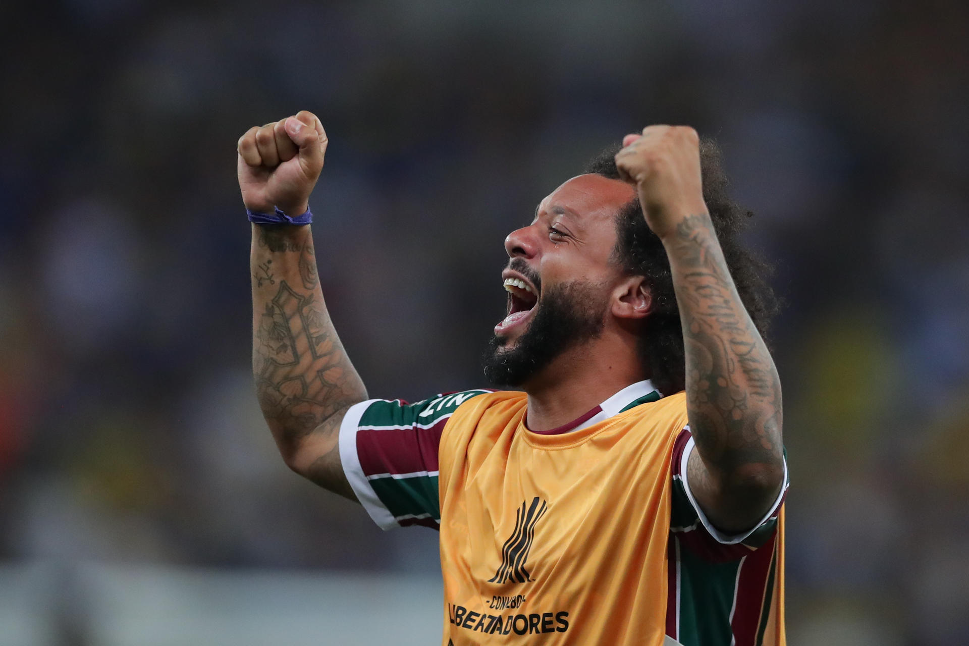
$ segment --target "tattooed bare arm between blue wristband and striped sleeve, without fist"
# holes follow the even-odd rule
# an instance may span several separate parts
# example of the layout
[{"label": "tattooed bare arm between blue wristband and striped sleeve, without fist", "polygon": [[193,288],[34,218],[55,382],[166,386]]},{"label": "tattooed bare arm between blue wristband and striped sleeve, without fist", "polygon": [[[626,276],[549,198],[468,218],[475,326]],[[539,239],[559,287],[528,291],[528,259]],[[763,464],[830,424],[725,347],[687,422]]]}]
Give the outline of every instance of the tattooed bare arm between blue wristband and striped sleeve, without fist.
[{"label": "tattooed bare arm between blue wristband and striped sleeve, without fist", "polygon": [[[347,495],[336,437],[343,414],[366,390],[329,319],[309,232],[254,232],[252,264],[266,267],[253,275],[253,375],[263,415],[284,456],[312,447],[297,471]],[[264,288],[277,284],[274,293]]]}]

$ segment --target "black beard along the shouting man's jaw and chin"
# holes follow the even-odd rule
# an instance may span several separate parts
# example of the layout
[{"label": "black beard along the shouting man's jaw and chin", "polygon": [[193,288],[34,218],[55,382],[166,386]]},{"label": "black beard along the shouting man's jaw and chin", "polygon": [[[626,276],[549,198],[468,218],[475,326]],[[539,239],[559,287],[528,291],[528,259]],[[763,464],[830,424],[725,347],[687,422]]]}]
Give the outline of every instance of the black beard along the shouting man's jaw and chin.
[{"label": "black beard along the shouting man's jaw and chin", "polygon": [[505,339],[491,337],[484,356],[487,380],[499,387],[523,385],[559,354],[597,338],[606,315],[604,293],[584,280],[547,286],[514,347],[505,349]]}]

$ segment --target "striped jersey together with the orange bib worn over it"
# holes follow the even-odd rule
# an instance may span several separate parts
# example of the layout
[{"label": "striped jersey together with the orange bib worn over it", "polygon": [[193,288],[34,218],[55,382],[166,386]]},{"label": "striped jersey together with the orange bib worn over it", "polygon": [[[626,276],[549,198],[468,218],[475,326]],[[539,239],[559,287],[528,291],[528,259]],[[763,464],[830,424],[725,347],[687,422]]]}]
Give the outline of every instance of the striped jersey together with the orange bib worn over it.
[{"label": "striped jersey together with the orange bib worn over it", "polygon": [[727,536],[690,490],[683,393],[640,382],[542,433],[526,411],[524,393],[468,390],[344,417],[374,521],[441,532],[445,646],[785,643],[786,465],[765,518]]}]

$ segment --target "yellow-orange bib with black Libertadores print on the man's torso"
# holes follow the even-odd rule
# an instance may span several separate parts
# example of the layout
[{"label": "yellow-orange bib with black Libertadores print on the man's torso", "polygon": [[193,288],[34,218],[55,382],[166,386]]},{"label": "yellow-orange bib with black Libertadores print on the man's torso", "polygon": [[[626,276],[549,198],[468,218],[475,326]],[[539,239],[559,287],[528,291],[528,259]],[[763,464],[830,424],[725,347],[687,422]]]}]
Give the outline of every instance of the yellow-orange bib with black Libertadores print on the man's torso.
[{"label": "yellow-orange bib with black Libertadores print on the man's torso", "polygon": [[527,396],[460,406],[439,447],[444,644],[660,646],[685,395],[561,435]]}]

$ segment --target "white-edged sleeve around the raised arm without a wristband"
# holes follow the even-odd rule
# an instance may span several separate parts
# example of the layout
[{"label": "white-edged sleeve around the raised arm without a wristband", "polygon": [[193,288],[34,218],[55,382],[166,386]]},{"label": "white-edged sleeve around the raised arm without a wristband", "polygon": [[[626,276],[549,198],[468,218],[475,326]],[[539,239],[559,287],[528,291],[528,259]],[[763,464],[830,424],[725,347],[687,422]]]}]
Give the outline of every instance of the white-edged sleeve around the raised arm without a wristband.
[{"label": "white-edged sleeve around the raised arm without a wristband", "polygon": [[732,561],[743,558],[772,538],[777,530],[777,517],[787,496],[788,467],[784,456],[784,484],[773,505],[760,522],[746,532],[726,534],[715,528],[697,503],[687,477],[687,461],[695,446],[690,427],[676,438],[672,450],[672,514],[670,531],[680,542],[709,561]]}]

